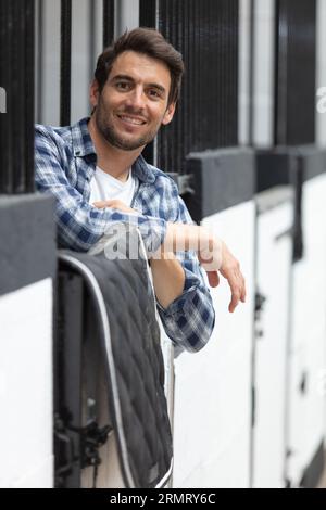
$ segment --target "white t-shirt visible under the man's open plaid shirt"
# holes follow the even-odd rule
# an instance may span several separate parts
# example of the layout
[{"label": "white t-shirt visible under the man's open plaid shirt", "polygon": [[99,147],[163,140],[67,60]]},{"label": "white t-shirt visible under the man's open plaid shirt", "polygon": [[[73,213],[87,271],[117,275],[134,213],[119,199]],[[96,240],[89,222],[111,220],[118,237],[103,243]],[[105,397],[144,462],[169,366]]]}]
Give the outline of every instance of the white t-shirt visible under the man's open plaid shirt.
[{"label": "white t-shirt visible under the man's open plaid shirt", "polygon": [[90,181],[89,203],[102,200],[121,200],[130,207],[136,188],[136,180],[129,171],[126,182],[110,176],[97,166],[95,175]]}]

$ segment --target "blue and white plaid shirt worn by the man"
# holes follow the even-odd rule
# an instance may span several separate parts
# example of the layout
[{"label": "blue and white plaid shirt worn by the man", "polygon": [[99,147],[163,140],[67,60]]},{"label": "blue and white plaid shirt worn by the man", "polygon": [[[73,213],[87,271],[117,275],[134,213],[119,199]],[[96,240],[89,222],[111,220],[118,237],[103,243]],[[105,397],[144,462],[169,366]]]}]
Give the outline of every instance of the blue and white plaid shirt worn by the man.
[{"label": "blue and white plaid shirt worn by the man", "polygon": [[[167,221],[190,222],[174,181],[139,156],[133,165],[136,191],[133,216],[116,209],[99,209],[89,204],[90,180],[97,155],[90,138],[88,118],[74,126],[36,126],[35,178],[37,189],[55,197],[55,221],[60,247],[87,252],[104,234],[108,225],[131,222],[139,228],[146,247],[156,250],[163,242]],[[177,254],[185,270],[183,294],[167,308],[158,304],[167,335],[189,352],[201,349],[214,326],[210,291],[195,253]]]}]

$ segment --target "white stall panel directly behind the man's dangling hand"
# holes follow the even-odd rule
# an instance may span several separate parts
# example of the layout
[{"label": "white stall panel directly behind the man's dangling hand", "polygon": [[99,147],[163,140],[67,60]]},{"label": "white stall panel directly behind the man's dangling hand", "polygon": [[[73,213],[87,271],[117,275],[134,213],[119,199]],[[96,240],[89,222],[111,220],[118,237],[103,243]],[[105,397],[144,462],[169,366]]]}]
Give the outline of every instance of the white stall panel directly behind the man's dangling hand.
[{"label": "white stall panel directly behind the man's dangling hand", "polygon": [[226,281],[212,290],[216,326],[209,344],[175,360],[174,487],[248,487],[254,205],[238,205],[203,224],[241,263],[248,299],[235,314]]}]

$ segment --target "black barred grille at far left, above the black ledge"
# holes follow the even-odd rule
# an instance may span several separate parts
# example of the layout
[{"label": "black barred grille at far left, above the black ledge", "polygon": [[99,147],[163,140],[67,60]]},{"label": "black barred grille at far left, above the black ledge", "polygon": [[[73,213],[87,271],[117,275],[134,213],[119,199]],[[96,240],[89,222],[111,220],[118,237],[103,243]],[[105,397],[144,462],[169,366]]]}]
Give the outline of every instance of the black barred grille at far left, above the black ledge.
[{"label": "black barred grille at far left, above the black ledge", "polygon": [[[34,191],[34,0],[0,2],[0,193]],[[5,94],[3,93],[5,91]]]}]

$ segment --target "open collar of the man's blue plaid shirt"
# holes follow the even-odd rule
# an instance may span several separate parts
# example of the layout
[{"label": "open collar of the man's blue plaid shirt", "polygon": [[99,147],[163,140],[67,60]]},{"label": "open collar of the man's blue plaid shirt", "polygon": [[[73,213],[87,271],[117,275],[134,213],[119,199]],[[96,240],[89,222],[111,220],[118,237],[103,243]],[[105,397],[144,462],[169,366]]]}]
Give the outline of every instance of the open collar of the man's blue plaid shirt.
[{"label": "open collar of the man's blue plaid shirt", "polygon": [[[72,126],[74,155],[77,157],[84,157],[88,155],[96,156],[95,146],[87,126],[88,120],[89,117],[85,117]],[[149,167],[142,155],[137,157],[133,165],[133,174],[143,182],[153,183],[155,181],[154,173]]]}]

